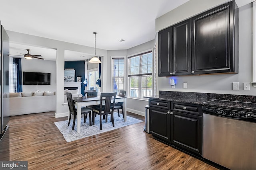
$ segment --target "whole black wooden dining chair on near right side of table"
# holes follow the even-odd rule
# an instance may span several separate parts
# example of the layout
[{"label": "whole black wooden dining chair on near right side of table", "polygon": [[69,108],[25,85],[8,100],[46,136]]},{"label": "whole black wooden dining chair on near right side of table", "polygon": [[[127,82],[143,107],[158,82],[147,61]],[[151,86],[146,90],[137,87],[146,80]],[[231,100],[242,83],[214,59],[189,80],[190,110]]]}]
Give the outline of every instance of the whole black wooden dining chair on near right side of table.
[{"label": "whole black wooden dining chair on near right side of table", "polygon": [[[95,115],[100,115],[100,130],[102,130],[102,115],[106,115],[106,122],[108,122],[108,114],[111,115],[111,121],[113,127],[114,125],[114,110],[111,109],[111,100],[113,100],[113,107],[115,106],[115,100],[116,100],[116,92],[114,93],[101,93],[100,94],[100,107],[94,107],[92,109],[92,125],[94,125],[95,121]],[[103,105],[103,101],[105,101],[105,104]]]}]

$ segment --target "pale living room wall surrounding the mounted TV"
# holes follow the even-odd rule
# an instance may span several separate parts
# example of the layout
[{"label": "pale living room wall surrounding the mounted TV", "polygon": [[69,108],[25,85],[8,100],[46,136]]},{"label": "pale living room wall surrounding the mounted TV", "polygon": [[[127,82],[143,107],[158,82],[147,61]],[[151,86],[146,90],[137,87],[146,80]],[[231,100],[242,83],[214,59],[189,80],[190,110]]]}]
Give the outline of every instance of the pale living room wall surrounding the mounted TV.
[{"label": "pale living room wall surrounding the mounted TV", "polygon": [[[38,85],[37,89],[40,92],[56,91],[56,61],[39,60],[39,59],[21,59],[22,72],[47,72],[51,73],[51,85]],[[23,76],[23,74],[22,74]],[[23,92],[36,91],[36,85],[22,85]]]}]

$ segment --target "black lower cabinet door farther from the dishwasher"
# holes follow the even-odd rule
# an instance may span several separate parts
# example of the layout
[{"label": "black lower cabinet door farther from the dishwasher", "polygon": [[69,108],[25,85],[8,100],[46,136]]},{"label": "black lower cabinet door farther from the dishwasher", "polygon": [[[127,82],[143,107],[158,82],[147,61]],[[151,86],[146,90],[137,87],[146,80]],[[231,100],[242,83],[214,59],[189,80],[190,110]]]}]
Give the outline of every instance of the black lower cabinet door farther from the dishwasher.
[{"label": "black lower cabinet door farther from the dishwasher", "polygon": [[170,112],[166,109],[149,107],[150,133],[162,141],[170,143]]}]

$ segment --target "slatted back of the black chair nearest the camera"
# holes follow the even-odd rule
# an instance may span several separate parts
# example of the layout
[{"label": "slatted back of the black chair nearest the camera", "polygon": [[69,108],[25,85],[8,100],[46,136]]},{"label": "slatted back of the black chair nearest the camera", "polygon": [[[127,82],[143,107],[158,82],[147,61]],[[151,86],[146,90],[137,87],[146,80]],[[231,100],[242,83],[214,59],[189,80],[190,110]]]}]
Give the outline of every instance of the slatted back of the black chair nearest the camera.
[{"label": "slatted back of the black chair nearest the camera", "polygon": [[[100,111],[102,111],[102,100],[105,100],[104,112],[110,112],[111,100],[113,100],[113,108],[116,101],[116,92],[100,94]],[[113,112],[113,109],[112,109]]]}]

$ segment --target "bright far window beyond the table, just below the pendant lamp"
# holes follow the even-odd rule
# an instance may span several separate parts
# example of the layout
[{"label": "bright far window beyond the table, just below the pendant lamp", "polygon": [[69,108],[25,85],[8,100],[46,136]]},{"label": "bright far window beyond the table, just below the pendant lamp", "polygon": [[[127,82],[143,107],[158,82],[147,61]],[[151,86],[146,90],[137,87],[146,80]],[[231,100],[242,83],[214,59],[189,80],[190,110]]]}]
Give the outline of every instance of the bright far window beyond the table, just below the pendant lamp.
[{"label": "bright far window beyond the table, just below the pendant lamp", "polygon": [[100,92],[100,87],[95,84],[98,79],[99,79],[98,69],[88,70],[87,90],[96,90],[96,92]]}]

